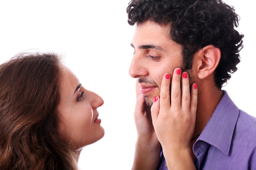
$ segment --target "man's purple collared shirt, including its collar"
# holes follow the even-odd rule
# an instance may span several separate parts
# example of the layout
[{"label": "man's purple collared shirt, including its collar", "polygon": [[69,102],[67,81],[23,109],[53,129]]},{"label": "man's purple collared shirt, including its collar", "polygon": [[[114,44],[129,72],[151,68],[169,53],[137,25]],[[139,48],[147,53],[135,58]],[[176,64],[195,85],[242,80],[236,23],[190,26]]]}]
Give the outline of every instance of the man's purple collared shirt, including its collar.
[{"label": "man's purple collared shirt, including its collar", "polygon": [[[232,102],[226,91],[193,145],[197,170],[256,170],[256,118]],[[161,154],[159,170],[167,170]]]}]

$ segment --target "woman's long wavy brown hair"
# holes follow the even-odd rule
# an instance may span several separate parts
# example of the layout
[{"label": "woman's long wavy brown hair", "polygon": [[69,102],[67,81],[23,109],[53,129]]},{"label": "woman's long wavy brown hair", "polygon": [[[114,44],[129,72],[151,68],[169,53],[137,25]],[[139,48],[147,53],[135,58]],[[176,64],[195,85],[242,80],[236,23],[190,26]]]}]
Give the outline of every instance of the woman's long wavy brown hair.
[{"label": "woman's long wavy brown hair", "polygon": [[77,170],[58,135],[62,70],[56,53],[19,53],[0,65],[0,170]]}]

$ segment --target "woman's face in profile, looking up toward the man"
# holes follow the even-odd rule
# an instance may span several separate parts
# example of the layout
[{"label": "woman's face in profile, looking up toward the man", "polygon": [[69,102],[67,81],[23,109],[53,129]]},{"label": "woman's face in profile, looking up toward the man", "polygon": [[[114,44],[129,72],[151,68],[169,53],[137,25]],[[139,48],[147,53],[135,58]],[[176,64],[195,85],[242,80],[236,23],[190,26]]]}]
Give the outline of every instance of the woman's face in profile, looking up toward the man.
[{"label": "woman's face in profile, looking up toward the man", "polygon": [[59,135],[77,148],[92,144],[104,136],[97,108],[103,105],[99,95],[86,90],[66,67],[60,86]]}]

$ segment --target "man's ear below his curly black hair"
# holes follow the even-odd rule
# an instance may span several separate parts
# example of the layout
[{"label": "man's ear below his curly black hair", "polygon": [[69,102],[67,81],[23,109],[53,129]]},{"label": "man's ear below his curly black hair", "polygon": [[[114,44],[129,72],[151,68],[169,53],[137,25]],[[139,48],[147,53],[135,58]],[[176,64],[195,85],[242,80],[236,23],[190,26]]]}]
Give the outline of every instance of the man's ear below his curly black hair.
[{"label": "man's ear below his curly black hair", "polygon": [[221,52],[213,45],[207,45],[195,53],[196,69],[198,78],[204,79],[211,75],[220,62]]}]

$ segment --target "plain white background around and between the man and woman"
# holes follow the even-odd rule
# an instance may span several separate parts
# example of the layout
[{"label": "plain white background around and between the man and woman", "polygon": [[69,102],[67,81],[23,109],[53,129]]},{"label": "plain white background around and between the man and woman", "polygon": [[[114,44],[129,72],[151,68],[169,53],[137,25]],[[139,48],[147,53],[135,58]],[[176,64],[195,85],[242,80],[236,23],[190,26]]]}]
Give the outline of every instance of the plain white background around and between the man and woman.
[{"label": "plain white background around and between the man and woman", "polygon": [[[40,49],[65,55],[83,86],[99,94],[106,134],[81,152],[81,170],[129,170],[136,130],[135,79],[128,75],[134,26],[127,23],[129,0],[0,0],[0,63],[20,51]],[[227,86],[238,107],[256,116],[253,0],[229,0],[245,34],[242,62]]]}]

